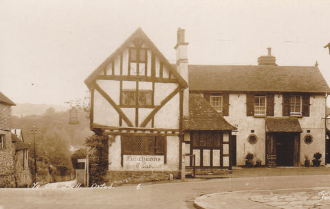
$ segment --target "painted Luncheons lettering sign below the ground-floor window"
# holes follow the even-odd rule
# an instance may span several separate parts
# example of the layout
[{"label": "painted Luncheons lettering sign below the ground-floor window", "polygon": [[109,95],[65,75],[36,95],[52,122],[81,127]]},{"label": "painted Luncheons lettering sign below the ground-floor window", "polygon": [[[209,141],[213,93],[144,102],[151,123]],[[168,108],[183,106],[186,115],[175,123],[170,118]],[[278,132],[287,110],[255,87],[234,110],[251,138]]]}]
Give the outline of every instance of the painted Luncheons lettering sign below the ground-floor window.
[{"label": "painted Luncheons lettering sign below the ground-floor window", "polygon": [[153,170],[164,164],[164,156],[124,155],[125,169]]}]

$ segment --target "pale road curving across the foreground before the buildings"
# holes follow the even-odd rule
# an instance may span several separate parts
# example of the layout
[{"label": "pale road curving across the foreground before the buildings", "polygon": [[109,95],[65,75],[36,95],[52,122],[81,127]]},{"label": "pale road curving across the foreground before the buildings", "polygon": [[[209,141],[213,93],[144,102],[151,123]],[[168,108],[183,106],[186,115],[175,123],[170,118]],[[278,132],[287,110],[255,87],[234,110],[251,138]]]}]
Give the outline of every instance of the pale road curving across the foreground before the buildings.
[{"label": "pale road curving across the foreground before the buildings", "polygon": [[189,180],[113,188],[1,188],[0,209],[194,208],[202,194],[236,190],[330,187],[329,175],[290,175]]}]

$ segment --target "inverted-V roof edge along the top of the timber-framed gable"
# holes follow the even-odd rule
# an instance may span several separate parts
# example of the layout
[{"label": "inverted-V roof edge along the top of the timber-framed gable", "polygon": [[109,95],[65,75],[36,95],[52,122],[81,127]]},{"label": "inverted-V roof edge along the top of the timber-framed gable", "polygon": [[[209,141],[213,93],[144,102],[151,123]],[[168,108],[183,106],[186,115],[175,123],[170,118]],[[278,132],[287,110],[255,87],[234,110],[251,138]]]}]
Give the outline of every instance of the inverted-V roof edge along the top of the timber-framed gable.
[{"label": "inverted-V roof edge along the top of the timber-framed gable", "polygon": [[148,38],[148,36],[146,36],[146,34],[142,31],[142,29],[140,27],[137,28],[135,30],[135,32],[133,32],[133,34],[131,34],[131,36],[129,36],[129,38],[127,38],[122,43],[122,45],[120,45],[120,47],[118,47],[118,49],[116,49],[113,53],[111,53],[111,55],[106,60],[104,60],[104,62],[102,62],[102,64],[100,64],[100,66],[98,66],[98,68],[95,71],[93,71],[93,73],[91,73],[91,75],[89,75],[89,77],[87,77],[87,79],[85,79],[85,84],[87,84],[87,86],[89,86],[89,83],[92,82],[95,79],[95,77],[98,76],[105,68],[107,68],[107,66],[111,63],[111,61],[113,59],[115,59],[117,56],[119,56],[120,53],[122,53],[122,51],[124,51],[124,49],[126,47],[129,47],[129,45],[131,45],[131,42],[133,40],[135,40],[136,38],[142,39],[143,42],[146,45],[148,45],[148,47],[150,47],[150,49],[168,67],[168,71],[170,71],[170,73],[172,73],[172,75],[174,75],[174,77],[177,79],[179,84],[181,84],[181,86],[187,86],[187,82],[179,75],[179,73],[177,73],[177,71],[173,68],[173,66],[170,64],[170,62],[168,62],[168,60],[159,51],[159,49],[157,49],[155,44]]}]

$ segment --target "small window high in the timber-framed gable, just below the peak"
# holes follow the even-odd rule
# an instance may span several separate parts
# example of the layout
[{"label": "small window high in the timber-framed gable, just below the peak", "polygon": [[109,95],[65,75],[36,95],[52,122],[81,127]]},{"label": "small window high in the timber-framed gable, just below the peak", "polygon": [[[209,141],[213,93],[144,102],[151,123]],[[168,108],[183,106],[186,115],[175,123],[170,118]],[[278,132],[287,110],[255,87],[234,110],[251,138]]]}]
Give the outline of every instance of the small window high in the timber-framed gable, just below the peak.
[{"label": "small window high in the timber-framed gable, just below the peak", "polygon": [[129,73],[130,75],[142,75],[146,68],[146,49],[129,49]]}]

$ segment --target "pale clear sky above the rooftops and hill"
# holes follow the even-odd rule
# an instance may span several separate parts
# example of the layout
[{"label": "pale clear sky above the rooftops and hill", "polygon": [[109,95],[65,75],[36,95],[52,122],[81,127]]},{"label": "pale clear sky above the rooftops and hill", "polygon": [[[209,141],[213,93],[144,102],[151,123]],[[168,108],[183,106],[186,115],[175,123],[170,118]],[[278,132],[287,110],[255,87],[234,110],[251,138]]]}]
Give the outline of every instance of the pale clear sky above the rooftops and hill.
[{"label": "pale clear sky above the rooftops and hill", "polygon": [[[65,104],[137,27],[175,63],[177,28],[190,64],[318,67],[330,84],[330,1],[0,0],[0,91],[15,103]],[[329,106],[329,102],[328,102]]]}]

